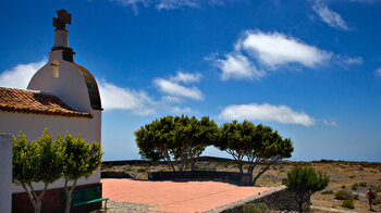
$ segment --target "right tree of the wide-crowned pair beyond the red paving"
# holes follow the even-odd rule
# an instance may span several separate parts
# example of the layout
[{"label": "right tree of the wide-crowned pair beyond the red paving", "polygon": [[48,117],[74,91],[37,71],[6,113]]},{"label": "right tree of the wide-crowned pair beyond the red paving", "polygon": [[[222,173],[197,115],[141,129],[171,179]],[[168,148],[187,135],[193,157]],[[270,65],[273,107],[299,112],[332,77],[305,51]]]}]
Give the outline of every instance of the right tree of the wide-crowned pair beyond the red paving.
[{"label": "right tree of the wide-crowned pair beyond the red paving", "polygon": [[248,161],[247,174],[254,175],[253,184],[269,170],[269,167],[294,151],[290,138],[282,138],[276,130],[261,124],[254,125],[244,121],[224,123],[221,127],[220,139],[214,143],[220,150],[230,153],[237,162],[239,173],[243,174],[244,160]]}]

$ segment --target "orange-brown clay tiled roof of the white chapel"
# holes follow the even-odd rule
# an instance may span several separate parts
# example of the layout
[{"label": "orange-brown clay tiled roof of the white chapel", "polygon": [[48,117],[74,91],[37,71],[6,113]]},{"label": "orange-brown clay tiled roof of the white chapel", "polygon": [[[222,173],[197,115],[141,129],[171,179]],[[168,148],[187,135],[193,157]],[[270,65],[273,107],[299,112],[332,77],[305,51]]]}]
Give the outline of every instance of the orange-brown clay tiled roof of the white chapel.
[{"label": "orange-brown clay tiled roof of the white chapel", "polygon": [[66,105],[59,98],[40,91],[0,87],[0,111],[89,117],[86,112],[78,112]]}]

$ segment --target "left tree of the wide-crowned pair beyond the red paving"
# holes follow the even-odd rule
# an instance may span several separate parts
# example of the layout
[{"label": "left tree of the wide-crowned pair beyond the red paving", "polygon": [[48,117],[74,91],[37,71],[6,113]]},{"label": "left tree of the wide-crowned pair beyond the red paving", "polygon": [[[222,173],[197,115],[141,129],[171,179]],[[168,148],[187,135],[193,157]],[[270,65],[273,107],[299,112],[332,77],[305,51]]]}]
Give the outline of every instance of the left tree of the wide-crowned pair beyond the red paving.
[{"label": "left tree of the wide-crowned pair beyond the red paving", "polygon": [[164,116],[142,126],[135,137],[143,158],[164,160],[175,172],[193,168],[205,148],[218,139],[219,128],[204,116]]}]

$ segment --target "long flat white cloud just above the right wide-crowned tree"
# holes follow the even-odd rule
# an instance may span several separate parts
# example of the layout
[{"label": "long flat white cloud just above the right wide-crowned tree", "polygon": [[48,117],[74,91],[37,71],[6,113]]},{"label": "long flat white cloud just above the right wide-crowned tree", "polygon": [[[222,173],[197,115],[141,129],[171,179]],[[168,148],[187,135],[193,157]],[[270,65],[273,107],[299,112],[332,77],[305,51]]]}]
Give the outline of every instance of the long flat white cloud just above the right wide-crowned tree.
[{"label": "long flat white cloud just above the right wide-crowned tree", "polygon": [[295,112],[287,105],[241,104],[228,105],[219,114],[222,120],[256,120],[263,122],[279,122],[282,124],[299,124],[304,126],[315,125],[314,117],[304,112]]}]

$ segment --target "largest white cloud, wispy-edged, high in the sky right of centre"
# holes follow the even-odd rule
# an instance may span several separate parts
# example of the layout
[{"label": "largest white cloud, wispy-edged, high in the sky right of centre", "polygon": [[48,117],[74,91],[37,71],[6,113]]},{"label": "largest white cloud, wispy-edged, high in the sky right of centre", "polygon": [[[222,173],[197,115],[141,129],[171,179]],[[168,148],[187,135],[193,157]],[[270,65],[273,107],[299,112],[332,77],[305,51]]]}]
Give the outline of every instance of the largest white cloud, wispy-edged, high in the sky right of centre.
[{"label": "largest white cloud, wispy-edged, high in the sky right of centre", "polygon": [[361,57],[334,54],[298,38],[259,29],[241,34],[234,50],[224,57],[213,53],[205,60],[211,61],[221,71],[222,80],[260,79],[272,71],[286,71],[295,65],[307,68],[339,65],[348,68],[362,64]]}]

